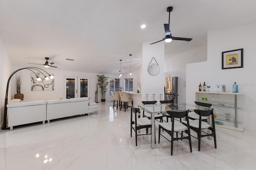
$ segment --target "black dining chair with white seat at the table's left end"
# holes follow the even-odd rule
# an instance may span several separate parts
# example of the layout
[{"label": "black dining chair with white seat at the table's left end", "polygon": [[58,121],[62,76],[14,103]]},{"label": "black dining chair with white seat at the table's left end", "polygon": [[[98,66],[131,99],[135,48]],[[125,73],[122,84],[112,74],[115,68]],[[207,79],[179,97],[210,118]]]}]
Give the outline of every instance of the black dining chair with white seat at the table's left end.
[{"label": "black dining chair with white seat at the table's left end", "polygon": [[[136,141],[136,146],[137,146],[137,136],[139,135],[146,135],[146,134],[151,134],[152,133],[152,125],[151,122],[148,118],[146,117],[141,117],[137,119],[137,113],[140,111],[139,108],[134,108],[132,106],[131,109],[131,137],[132,137],[132,130],[134,130],[135,132],[135,141]],[[134,115],[134,116],[133,116]],[[133,120],[134,117],[134,120]],[[138,134],[137,131],[142,129],[142,128],[146,128],[146,134]],[[148,128],[150,128],[151,132],[148,133]]]}]

